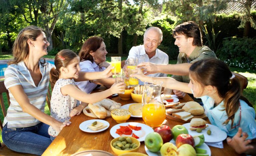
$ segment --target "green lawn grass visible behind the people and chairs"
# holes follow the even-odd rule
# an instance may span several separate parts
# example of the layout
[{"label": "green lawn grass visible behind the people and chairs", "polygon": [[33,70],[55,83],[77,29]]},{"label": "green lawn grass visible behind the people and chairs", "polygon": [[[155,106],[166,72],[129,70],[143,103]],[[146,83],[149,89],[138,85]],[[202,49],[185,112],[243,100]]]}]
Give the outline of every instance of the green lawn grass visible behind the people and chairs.
[{"label": "green lawn grass visible behind the people and chairs", "polygon": [[[4,56],[0,56],[0,60],[2,59],[10,59],[11,55],[4,55]],[[49,58],[49,59],[54,59],[54,56],[46,56],[45,58]],[[126,60],[127,57],[122,57],[122,60]],[[108,62],[111,62],[111,57],[107,57]],[[177,60],[169,60],[169,64],[176,64]],[[232,72],[236,72],[239,73],[245,77],[248,78],[248,86],[247,88],[243,91],[244,96],[252,103],[254,109],[256,110],[256,71],[254,70],[244,70],[241,68],[230,68],[230,70]],[[171,76],[171,75],[168,75]],[[4,103],[6,108],[8,107],[7,104],[7,97],[6,94],[3,93],[3,98],[4,98]],[[1,121],[3,121],[3,114],[2,114],[2,109],[0,108],[0,119]],[[50,115],[50,110],[48,108],[48,105],[46,103],[45,105],[45,113]],[[2,133],[0,134],[0,141],[2,142]]]}]

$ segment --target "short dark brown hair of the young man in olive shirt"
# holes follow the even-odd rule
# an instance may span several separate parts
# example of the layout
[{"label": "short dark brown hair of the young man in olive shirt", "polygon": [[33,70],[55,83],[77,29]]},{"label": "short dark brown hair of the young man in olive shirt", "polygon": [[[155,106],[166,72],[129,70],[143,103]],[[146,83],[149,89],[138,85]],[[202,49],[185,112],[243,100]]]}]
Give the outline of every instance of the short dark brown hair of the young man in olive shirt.
[{"label": "short dark brown hair of the young man in olive shirt", "polygon": [[176,26],[172,32],[172,36],[185,35],[186,38],[194,38],[193,46],[202,47],[203,40],[199,26],[194,21],[184,22]]}]

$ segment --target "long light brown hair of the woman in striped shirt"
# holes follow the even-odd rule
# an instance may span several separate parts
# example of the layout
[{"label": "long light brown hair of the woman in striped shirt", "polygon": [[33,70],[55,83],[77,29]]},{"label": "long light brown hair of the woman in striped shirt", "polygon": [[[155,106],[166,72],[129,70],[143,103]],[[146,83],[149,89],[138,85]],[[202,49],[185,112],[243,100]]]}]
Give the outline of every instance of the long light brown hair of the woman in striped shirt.
[{"label": "long light brown hair of the woman in striped shirt", "polygon": [[[35,41],[36,38],[41,35],[43,33],[43,29],[42,28],[39,28],[39,27],[36,27],[36,26],[28,26],[24,29],[22,29],[14,44],[13,44],[13,47],[12,47],[12,55],[13,55],[13,60],[10,60],[8,62],[8,65],[11,65],[11,64],[17,64],[21,61],[23,61],[29,54],[29,46],[28,46],[28,43],[27,41],[30,39],[30,40],[33,40]],[[41,64],[45,64],[45,59],[43,59],[43,61],[41,62]]]}]

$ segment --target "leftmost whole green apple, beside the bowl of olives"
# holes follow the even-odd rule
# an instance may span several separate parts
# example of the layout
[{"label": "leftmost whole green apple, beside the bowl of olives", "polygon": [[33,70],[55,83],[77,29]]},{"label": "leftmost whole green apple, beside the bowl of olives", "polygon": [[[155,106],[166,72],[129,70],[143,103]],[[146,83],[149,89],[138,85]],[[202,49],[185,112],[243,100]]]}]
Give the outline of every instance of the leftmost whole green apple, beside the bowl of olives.
[{"label": "leftmost whole green apple, beside the bowl of olives", "polygon": [[151,152],[157,152],[163,145],[163,139],[161,135],[157,132],[149,133],[145,138],[145,145]]}]

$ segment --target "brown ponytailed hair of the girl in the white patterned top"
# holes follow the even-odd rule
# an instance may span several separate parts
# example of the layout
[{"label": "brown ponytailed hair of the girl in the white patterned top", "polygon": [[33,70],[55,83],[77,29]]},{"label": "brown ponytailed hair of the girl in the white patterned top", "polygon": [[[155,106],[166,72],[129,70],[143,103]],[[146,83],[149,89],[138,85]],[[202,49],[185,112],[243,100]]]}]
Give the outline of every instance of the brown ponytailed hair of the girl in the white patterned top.
[{"label": "brown ponytailed hair of the girl in the white patterned top", "polygon": [[61,50],[59,53],[56,54],[54,60],[54,65],[56,69],[52,68],[50,71],[50,82],[52,88],[54,87],[56,81],[60,77],[60,68],[66,68],[71,63],[71,61],[76,57],[78,57],[76,53],[69,49]]}]

